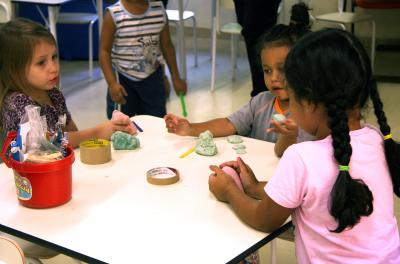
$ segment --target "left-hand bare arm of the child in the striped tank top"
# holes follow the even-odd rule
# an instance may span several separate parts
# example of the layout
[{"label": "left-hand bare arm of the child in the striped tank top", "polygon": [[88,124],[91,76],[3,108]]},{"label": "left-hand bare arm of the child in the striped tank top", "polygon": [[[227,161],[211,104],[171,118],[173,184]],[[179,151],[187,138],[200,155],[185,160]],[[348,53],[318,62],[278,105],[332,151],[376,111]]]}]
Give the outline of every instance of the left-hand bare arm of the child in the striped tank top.
[{"label": "left-hand bare arm of the child in the striped tank top", "polygon": [[107,81],[110,96],[117,104],[125,104],[124,96],[127,96],[125,88],[117,82],[112,68],[111,49],[114,42],[115,25],[109,11],[104,15],[100,36],[99,61],[104,78]]}]

